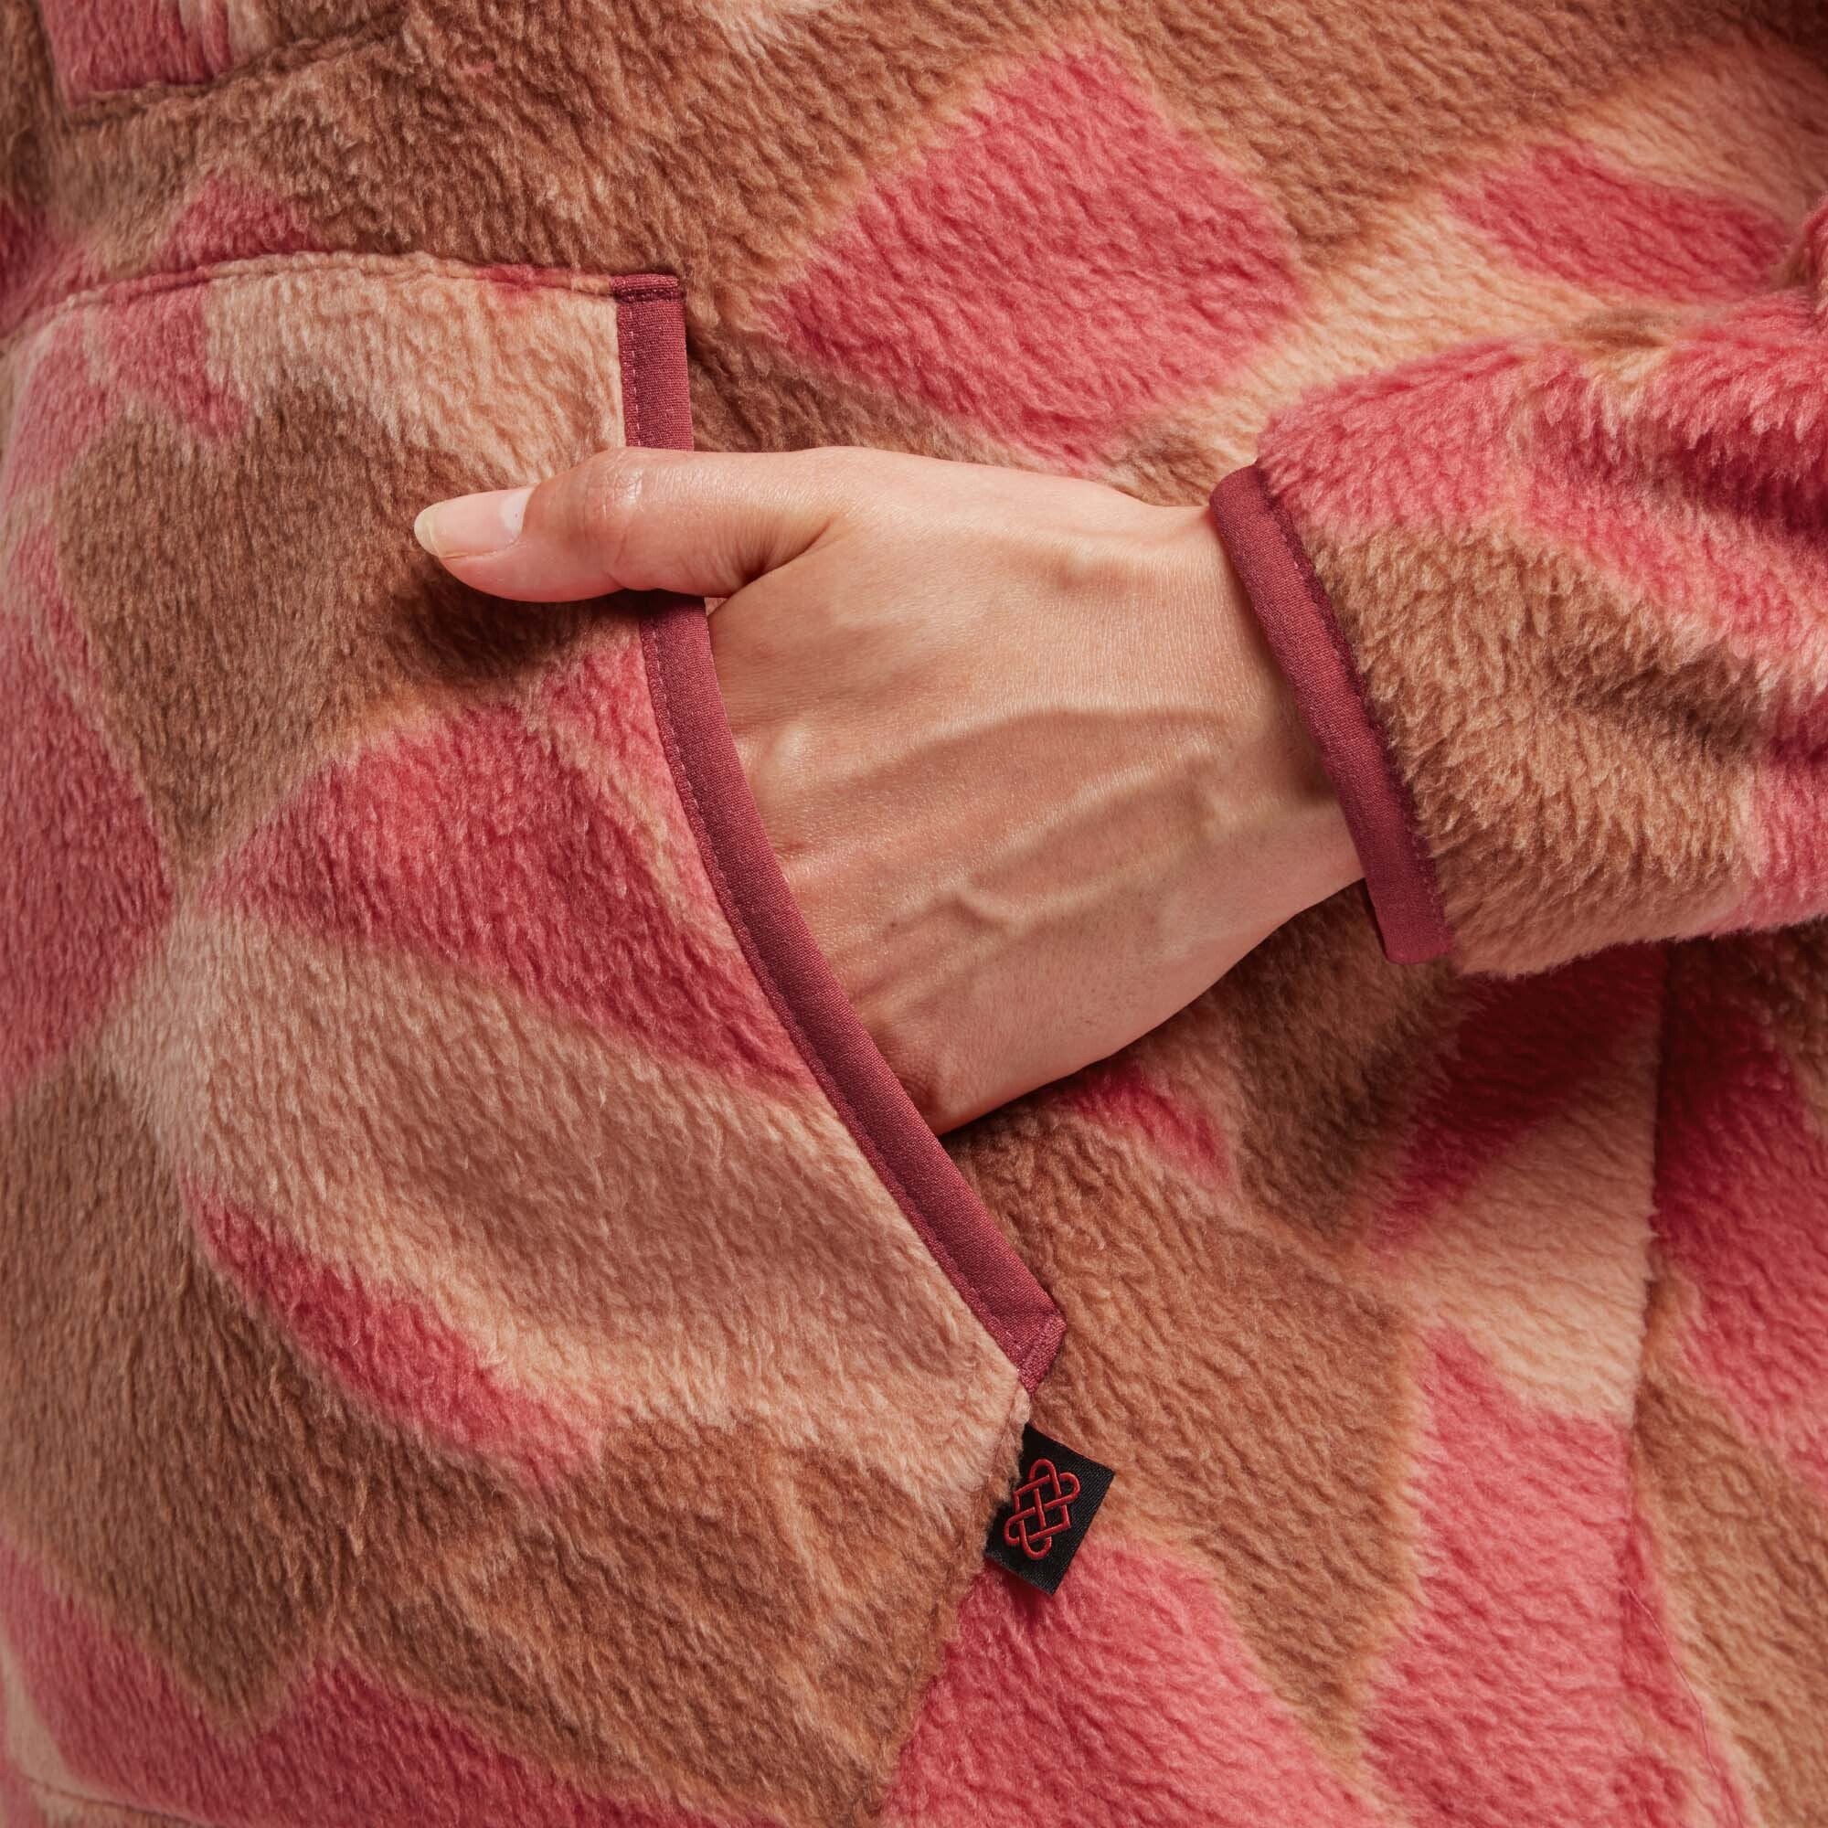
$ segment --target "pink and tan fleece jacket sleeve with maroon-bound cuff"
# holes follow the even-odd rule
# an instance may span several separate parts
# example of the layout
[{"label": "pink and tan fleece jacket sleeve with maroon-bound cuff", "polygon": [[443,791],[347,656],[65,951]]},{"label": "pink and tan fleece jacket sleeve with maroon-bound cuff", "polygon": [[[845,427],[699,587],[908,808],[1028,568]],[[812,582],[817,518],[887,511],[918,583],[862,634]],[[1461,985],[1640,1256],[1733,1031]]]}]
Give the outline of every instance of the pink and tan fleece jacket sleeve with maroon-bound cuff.
[{"label": "pink and tan fleece jacket sleeve with maroon-bound cuff", "polygon": [[1391,958],[1828,912],[1828,205],[1782,283],[1309,397],[1214,517]]}]

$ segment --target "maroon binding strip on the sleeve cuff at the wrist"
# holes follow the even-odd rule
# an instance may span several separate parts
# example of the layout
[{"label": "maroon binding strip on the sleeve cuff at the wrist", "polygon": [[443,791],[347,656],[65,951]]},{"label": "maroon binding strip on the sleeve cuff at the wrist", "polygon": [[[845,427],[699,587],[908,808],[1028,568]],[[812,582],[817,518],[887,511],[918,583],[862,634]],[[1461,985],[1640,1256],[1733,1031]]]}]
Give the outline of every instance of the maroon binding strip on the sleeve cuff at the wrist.
[{"label": "maroon binding strip on the sleeve cuff at the wrist", "polygon": [[1409,790],[1294,525],[1254,464],[1212,492],[1212,519],[1340,797],[1386,956],[1440,958],[1453,932]]}]

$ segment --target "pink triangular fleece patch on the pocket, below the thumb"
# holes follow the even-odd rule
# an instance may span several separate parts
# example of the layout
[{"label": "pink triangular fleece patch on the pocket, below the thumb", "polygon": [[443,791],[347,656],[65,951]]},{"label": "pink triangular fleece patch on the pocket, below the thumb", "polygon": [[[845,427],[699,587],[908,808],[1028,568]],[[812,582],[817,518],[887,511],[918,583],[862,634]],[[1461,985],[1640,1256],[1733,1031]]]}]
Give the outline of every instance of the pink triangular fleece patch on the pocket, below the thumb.
[{"label": "pink triangular fleece patch on the pocket, below the thumb", "polygon": [[[640,678],[632,643],[627,656]],[[627,779],[642,760],[614,766]],[[658,748],[651,766],[669,793]],[[742,962],[720,932],[680,923],[645,846],[517,709],[481,706],[327,768],[208,892],[272,923],[464,965],[744,1084],[804,1088]]]}]

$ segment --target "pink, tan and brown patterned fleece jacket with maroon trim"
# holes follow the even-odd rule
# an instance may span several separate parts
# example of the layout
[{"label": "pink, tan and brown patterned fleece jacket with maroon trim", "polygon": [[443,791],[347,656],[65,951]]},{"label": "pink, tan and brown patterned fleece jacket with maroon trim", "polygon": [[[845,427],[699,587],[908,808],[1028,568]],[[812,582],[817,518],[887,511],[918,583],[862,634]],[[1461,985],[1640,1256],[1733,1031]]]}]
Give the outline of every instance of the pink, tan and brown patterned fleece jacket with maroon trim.
[{"label": "pink, tan and brown patterned fleece jacket with maroon trim", "polygon": [[[0,71],[5,1828],[1828,1819],[1813,0],[0,0]],[[1340,896],[941,1152],[702,614],[408,534],[687,384],[1259,459],[1442,956]],[[1119,1470],[1053,1600],[1029,1413]]]}]

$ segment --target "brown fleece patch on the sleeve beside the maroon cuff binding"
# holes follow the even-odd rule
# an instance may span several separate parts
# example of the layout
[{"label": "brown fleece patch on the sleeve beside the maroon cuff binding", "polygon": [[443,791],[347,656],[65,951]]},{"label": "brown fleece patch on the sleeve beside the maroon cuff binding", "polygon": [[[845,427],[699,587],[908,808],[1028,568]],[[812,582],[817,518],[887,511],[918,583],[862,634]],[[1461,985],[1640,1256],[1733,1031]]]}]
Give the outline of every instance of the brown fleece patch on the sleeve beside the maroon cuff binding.
[{"label": "brown fleece patch on the sleeve beside the maroon cuff binding", "polygon": [[[1322,539],[1314,565],[1415,797],[1462,962],[1528,971],[1726,916],[1759,760],[1749,660],[1503,536]],[[1371,614],[1393,590],[1404,614]]]}]

